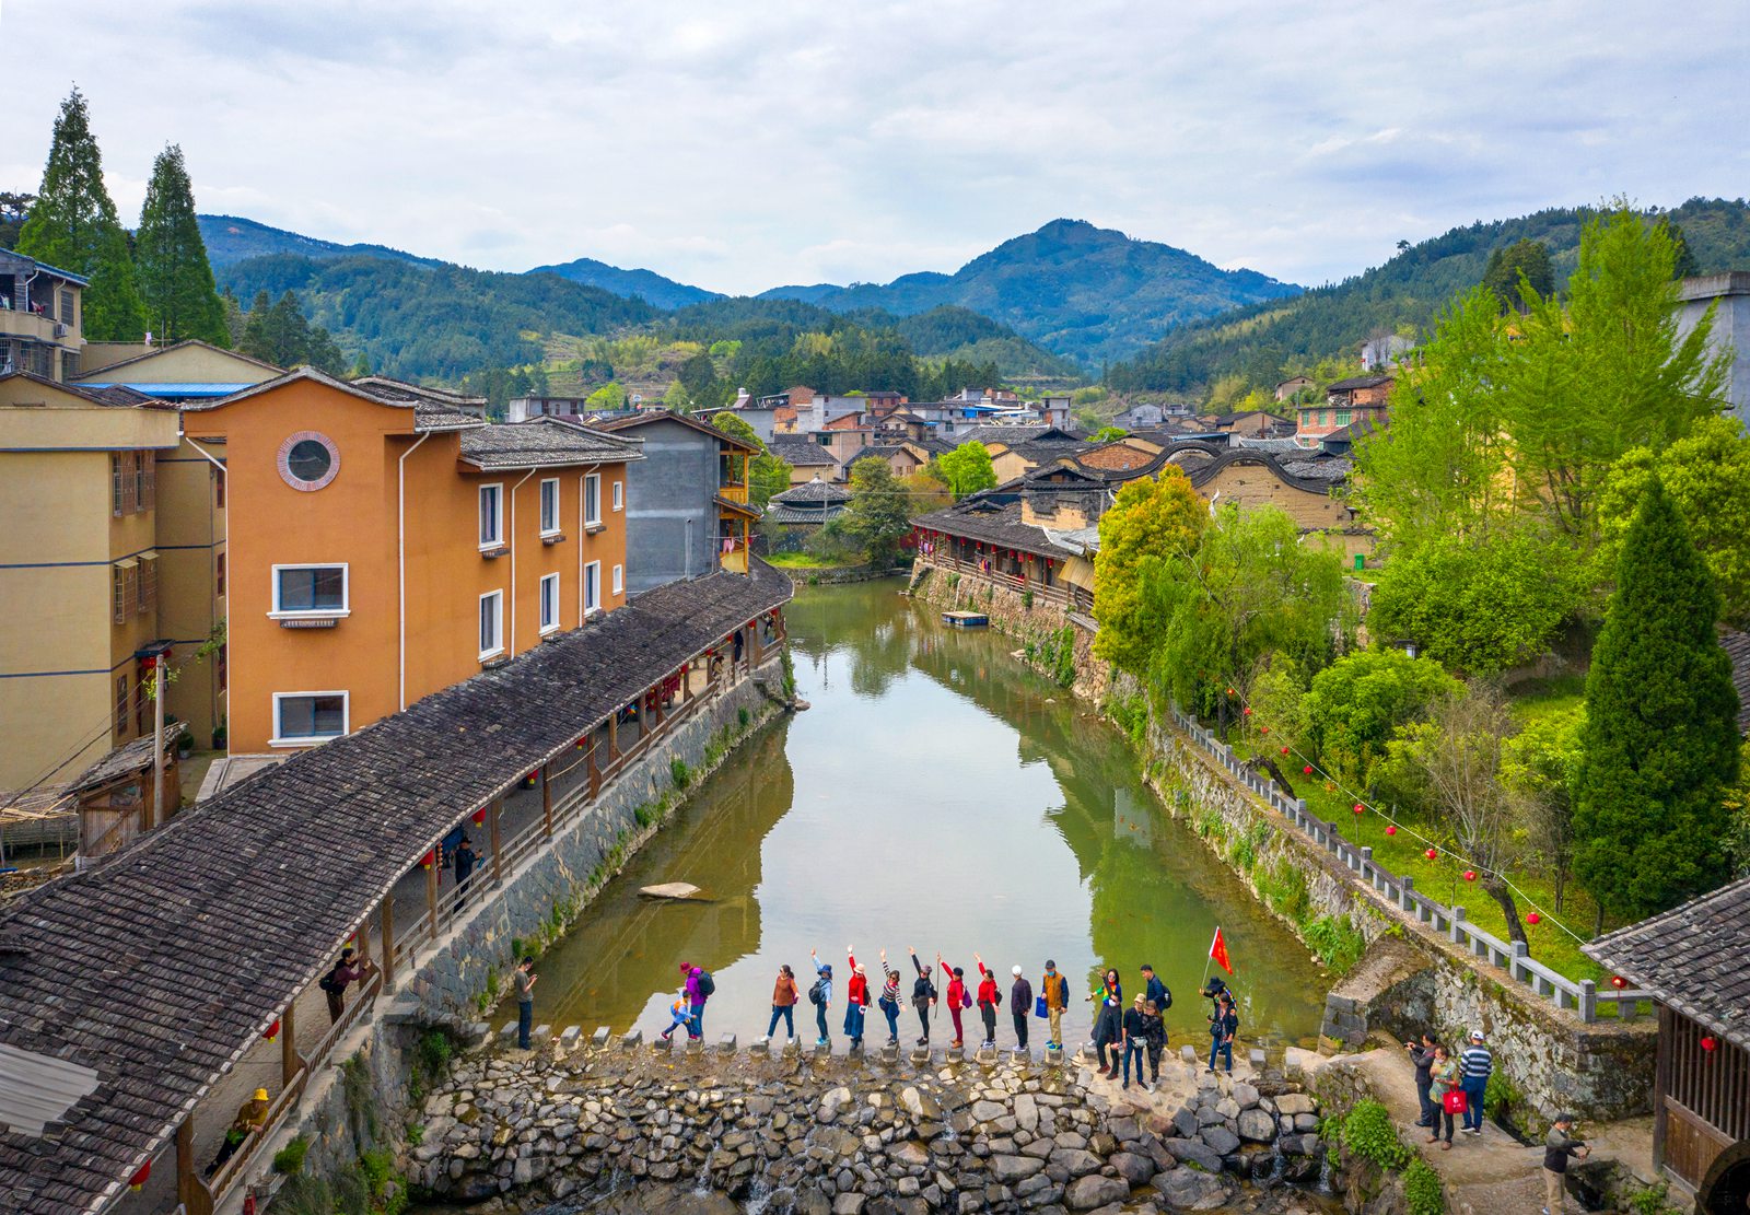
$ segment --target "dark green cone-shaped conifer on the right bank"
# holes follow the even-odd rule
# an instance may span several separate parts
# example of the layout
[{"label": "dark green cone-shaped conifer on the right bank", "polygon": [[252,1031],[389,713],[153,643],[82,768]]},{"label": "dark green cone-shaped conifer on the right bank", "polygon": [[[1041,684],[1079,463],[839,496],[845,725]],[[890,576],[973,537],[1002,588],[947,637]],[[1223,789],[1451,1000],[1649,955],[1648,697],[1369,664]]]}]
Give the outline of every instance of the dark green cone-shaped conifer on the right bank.
[{"label": "dark green cone-shaped conifer on the right bank", "polygon": [[1586,679],[1573,872],[1640,917],[1726,879],[1738,693],[1720,599],[1664,487],[1642,494]]}]

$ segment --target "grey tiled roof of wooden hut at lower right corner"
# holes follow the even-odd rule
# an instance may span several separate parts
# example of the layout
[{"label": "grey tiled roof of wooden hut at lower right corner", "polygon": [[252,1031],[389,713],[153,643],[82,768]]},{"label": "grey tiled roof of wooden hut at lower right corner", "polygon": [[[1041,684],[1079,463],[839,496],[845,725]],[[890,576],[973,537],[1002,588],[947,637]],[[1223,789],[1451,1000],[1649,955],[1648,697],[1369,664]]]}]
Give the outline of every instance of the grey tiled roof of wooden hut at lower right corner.
[{"label": "grey tiled roof of wooden hut at lower right corner", "polygon": [[1661,1003],[1750,1050],[1750,877],[1582,945]]}]

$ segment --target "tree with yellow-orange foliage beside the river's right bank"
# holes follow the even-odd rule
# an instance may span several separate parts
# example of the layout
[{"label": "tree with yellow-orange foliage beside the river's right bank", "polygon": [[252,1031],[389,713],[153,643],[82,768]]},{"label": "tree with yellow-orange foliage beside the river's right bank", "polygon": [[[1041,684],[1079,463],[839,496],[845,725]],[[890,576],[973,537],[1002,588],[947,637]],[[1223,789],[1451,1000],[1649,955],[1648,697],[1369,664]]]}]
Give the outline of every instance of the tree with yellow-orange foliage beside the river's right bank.
[{"label": "tree with yellow-orange foliage beside the river's right bank", "polygon": [[1195,551],[1206,518],[1204,501],[1176,464],[1162,467],[1155,480],[1139,476],[1118,487],[1099,518],[1094,557],[1096,655],[1130,674],[1148,674],[1162,622],[1146,611],[1143,569]]}]

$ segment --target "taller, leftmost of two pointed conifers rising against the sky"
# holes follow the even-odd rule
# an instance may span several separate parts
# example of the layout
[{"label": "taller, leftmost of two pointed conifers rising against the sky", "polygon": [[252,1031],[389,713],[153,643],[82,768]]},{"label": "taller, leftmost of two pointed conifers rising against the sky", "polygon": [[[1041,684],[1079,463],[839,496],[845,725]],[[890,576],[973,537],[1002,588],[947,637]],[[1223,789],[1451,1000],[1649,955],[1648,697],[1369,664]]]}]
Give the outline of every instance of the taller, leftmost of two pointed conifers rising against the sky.
[{"label": "taller, leftmost of two pointed conifers rising against the sky", "polygon": [[128,233],[103,186],[103,156],[91,135],[86,98],[74,89],[54,119],[49,163],[37,201],[18,235],[18,252],[89,280],[84,334],[91,341],[138,341],[145,308],[128,256]]}]

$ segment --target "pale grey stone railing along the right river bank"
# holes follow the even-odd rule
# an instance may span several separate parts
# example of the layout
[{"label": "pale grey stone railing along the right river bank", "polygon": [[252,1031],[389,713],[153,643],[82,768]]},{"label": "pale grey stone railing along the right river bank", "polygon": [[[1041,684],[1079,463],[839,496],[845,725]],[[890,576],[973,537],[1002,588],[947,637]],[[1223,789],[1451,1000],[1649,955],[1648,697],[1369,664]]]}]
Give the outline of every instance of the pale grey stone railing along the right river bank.
[{"label": "pale grey stone railing along the right river bank", "polygon": [[1550,1000],[1558,1008],[1578,1014],[1587,1024],[1598,1021],[1601,1010],[1610,1008],[1622,1021],[1631,1021],[1640,1014],[1640,1005],[1650,1005],[1652,993],[1647,991],[1600,991],[1591,979],[1570,979],[1544,963],[1530,958],[1524,942],[1505,942],[1500,937],[1477,928],[1465,919],[1465,909],[1428,898],[1416,889],[1416,879],[1396,875],[1374,860],[1374,849],[1351,844],[1337,832],[1335,823],[1326,823],[1307,812],[1306,798],[1290,798],[1276,781],[1258,774],[1255,769],[1234,758],[1234,748],[1220,742],[1211,730],[1194,721],[1178,707],[1172,709],[1174,725],[1208,753],[1237,784],[1264,798],[1270,809],[1286,818],[1300,835],[1312,846],[1335,856],[1351,874],[1351,881],[1368,886],[1388,903],[1410,916],[1418,926],[1428,933],[1440,935],[1451,944],[1466,949],[1472,956],[1488,961],[1538,996]]}]

